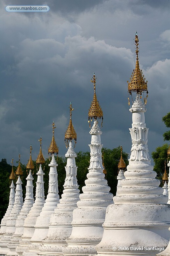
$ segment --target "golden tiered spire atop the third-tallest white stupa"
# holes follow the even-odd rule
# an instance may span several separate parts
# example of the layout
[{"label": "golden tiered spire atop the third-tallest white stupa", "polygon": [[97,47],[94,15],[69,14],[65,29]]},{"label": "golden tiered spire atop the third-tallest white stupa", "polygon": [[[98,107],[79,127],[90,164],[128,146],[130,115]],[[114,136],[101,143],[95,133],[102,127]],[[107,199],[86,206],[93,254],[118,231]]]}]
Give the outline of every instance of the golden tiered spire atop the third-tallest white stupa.
[{"label": "golden tiered spire atop the third-tallest white stupa", "polygon": [[[66,143],[66,148],[69,147],[68,141],[74,140],[74,142],[76,144],[76,140],[77,140],[77,134],[74,130],[72,120],[71,120],[71,115],[72,115],[73,110],[74,109],[72,108],[72,105],[71,105],[71,102],[70,102],[70,123],[69,123],[69,126],[67,128],[67,131],[65,132],[65,138],[64,138],[64,141]],[[75,144],[74,144],[74,147],[75,147]]]}]

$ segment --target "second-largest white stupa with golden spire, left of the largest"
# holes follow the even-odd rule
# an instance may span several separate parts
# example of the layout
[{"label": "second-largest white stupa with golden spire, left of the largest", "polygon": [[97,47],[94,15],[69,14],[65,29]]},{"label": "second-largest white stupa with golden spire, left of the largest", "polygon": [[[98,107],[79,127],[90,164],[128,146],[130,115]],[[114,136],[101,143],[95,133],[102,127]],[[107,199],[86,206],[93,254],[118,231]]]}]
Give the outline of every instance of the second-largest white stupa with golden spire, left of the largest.
[{"label": "second-largest white stupa with golden spire, left of the largest", "polygon": [[[89,119],[94,118],[94,124],[90,130],[90,165],[86,186],[82,188],[78,208],[73,211],[72,233],[66,239],[68,247],[63,248],[64,255],[85,255],[95,253],[95,245],[101,240],[103,234],[102,224],[104,222],[106,208],[113,204],[113,195],[109,193],[110,187],[104,178],[101,138],[102,134],[97,119],[103,119],[103,112],[96,97],[95,74],[91,80],[94,84],[94,98],[89,109]],[[89,120],[90,122],[90,120]]]}]

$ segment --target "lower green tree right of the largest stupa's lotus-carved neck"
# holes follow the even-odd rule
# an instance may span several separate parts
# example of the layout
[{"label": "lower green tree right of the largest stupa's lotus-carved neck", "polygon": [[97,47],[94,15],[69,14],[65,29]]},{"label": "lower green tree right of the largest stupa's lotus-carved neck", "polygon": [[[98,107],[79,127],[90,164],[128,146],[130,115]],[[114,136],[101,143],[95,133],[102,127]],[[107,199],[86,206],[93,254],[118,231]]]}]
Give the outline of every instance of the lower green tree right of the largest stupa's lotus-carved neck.
[{"label": "lower green tree right of the largest stupa's lotus-carved neck", "polygon": [[156,150],[152,152],[152,158],[155,164],[153,170],[157,173],[157,178],[161,181],[161,187],[163,186],[162,176],[165,171],[165,161],[167,162],[167,150],[168,144],[164,144],[161,147],[157,147]]}]

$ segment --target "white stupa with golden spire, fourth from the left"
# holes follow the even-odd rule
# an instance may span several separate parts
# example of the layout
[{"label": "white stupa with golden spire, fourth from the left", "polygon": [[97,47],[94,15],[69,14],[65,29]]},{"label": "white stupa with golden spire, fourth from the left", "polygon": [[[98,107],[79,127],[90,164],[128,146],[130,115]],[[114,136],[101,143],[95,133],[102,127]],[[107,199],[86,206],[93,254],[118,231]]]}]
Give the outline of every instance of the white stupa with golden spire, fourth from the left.
[{"label": "white stupa with golden spire, fourth from the left", "polygon": [[[41,143],[41,139],[39,140]],[[39,159],[41,161],[39,162]],[[35,192],[35,202],[33,206],[31,207],[31,210],[29,214],[27,215],[27,218],[24,220],[24,231],[23,235],[21,237],[20,245],[16,248],[16,252],[19,255],[23,255],[24,251],[28,251],[28,244],[30,244],[30,239],[34,234],[34,226],[36,223],[36,219],[38,216],[40,216],[40,213],[42,211],[42,208],[44,206],[45,200],[44,200],[44,172],[42,170],[42,164],[45,163],[45,159],[42,154],[41,150],[41,144],[40,144],[40,153],[37,157],[37,164],[40,164],[40,168],[37,172],[37,182],[36,182],[36,192]]]}]

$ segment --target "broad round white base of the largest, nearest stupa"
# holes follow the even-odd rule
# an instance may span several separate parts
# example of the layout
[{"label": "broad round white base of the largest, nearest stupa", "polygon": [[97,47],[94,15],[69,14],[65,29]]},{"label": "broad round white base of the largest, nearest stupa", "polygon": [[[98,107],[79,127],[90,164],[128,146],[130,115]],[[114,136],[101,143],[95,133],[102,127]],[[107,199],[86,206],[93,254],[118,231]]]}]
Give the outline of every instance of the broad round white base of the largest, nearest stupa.
[{"label": "broad round white base of the largest, nearest stupa", "polygon": [[[167,247],[170,207],[166,204],[114,204],[107,208],[98,256],[155,255]],[[110,221],[111,220],[111,221]]]}]

